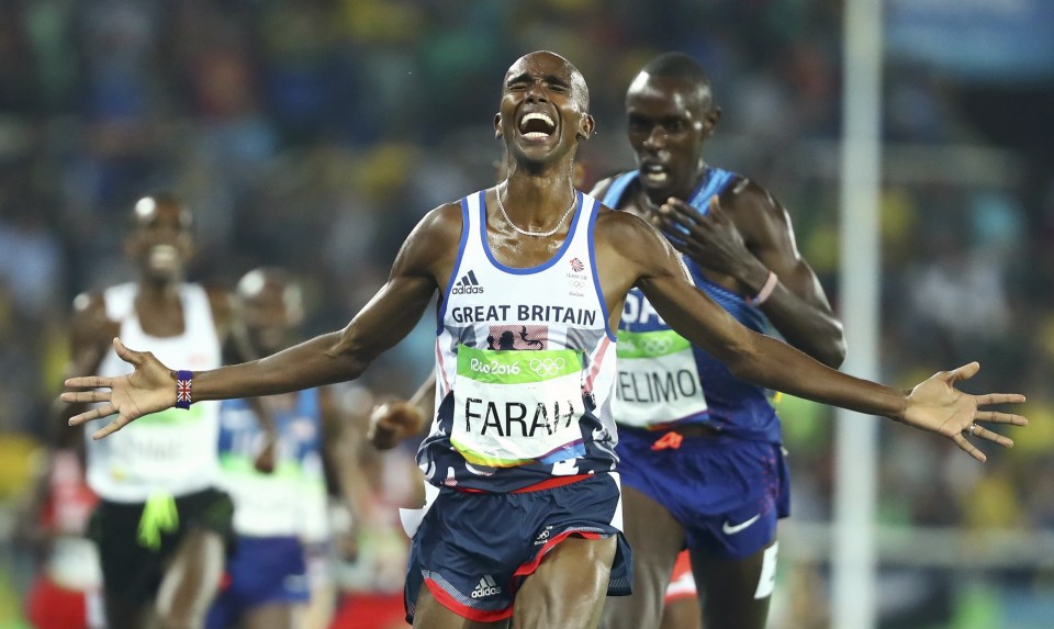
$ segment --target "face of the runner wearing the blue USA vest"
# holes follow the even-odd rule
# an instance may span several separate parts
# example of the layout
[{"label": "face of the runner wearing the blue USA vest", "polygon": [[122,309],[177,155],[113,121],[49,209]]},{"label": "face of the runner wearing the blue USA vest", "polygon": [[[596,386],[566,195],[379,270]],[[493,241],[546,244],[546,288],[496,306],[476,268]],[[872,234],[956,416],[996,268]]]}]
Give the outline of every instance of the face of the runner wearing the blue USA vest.
[{"label": "face of the runner wearing the blue USA vest", "polygon": [[703,143],[719,116],[708,90],[640,74],[626,93],[629,144],[650,196],[686,199],[703,166]]}]

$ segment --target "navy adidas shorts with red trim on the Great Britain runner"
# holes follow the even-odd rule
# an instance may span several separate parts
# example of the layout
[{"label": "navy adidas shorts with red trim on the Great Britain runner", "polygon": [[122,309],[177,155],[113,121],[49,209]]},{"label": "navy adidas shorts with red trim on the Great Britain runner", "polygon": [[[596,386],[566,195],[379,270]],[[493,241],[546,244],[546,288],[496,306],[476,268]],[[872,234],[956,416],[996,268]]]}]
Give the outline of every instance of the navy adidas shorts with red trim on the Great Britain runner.
[{"label": "navy adidas shorts with red trim on the Great Britain runner", "polygon": [[632,582],[631,559],[620,527],[616,474],[523,493],[440,488],[411,547],[406,621],[413,622],[423,585],[463,618],[493,622],[511,617],[524,580],[570,536],[618,538],[607,593],[625,596]]}]

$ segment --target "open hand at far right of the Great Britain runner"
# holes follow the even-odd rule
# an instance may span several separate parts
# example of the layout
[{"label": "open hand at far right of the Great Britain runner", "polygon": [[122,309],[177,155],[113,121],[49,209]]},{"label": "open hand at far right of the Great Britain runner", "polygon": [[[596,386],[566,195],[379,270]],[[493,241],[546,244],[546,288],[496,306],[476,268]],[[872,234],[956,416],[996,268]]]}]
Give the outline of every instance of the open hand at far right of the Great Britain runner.
[{"label": "open hand at far right of the Great Britain runner", "polygon": [[1025,426],[1029,420],[1021,415],[980,411],[979,407],[1024,402],[1024,395],[1017,393],[971,395],[955,389],[956,382],[973,378],[979,370],[979,363],[971,362],[954,371],[934,373],[916,385],[908,394],[907,405],[900,419],[916,428],[940,433],[980,462],[985,462],[985,453],[971,443],[967,437],[995,441],[1005,448],[1010,448],[1013,446],[1011,439],[976,423]]}]

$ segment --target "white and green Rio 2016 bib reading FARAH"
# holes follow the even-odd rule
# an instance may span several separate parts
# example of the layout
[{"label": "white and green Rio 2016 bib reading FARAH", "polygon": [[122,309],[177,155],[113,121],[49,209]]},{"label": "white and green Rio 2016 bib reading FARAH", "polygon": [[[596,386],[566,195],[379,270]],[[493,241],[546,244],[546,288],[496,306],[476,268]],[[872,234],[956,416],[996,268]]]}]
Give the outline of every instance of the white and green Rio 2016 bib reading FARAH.
[{"label": "white and green Rio 2016 bib reading FARAH", "polygon": [[583,355],[458,346],[450,442],[469,463],[512,468],[575,456]]}]

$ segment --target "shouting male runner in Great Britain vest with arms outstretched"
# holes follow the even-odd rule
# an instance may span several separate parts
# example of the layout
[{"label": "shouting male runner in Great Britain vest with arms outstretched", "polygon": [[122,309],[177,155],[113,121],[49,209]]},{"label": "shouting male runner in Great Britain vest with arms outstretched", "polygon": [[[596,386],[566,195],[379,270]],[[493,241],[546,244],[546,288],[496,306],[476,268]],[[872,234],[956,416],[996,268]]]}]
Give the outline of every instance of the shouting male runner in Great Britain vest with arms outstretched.
[{"label": "shouting male runner in Great Britain vest with arms outstretched", "polygon": [[[199,372],[171,371],[114,339],[135,372],[68,380],[69,387],[109,389],[64,393],[66,402],[100,404],[70,422],[116,414],[94,433],[102,438],[177,404],[355,379],[413,329],[441,290],[441,398],[418,453],[433,491],[413,536],[406,586],[408,616],[429,628],[507,627],[511,617],[517,629],[595,627],[605,592],[627,591],[610,404],[615,329],[635,285],[674,329],[742,378],[938,431],[978,460],[985,457],[964,436],[968,427],[1012,445],[975,422],[1025,419],[978,404],[1023,396],[953,386],[976,363],[904,392],[839,373],[738,324],[691,284],[648,223],[573,190],[574,153],[593,126],[574,66],[549,52],[520,57],[494,116],[513,157],[508,178],[429,212],[388,283],[344,329]],[[525,349],[522,326],[545,348]]]}]

